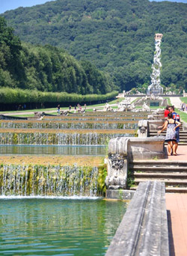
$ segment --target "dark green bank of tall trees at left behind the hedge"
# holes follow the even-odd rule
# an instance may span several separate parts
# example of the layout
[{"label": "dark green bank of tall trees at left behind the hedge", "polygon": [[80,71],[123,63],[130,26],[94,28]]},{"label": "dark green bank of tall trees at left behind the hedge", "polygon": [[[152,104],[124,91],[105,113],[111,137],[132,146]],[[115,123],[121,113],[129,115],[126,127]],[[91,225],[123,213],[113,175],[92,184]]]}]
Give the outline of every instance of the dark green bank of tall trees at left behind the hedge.
[{"label": "dark green bank of tall trees at left behind the hedge", "polygon": [[0,17],[0,86],[69,94],[107,94],[110,76],[64,49],[21,43]]}]

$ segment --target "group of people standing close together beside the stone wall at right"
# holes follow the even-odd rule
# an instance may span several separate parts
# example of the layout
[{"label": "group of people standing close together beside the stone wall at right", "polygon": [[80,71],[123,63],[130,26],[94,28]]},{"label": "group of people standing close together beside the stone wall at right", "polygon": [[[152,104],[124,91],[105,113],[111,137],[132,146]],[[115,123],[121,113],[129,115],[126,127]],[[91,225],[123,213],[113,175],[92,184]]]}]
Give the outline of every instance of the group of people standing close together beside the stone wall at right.
[{"label": "group of people standing close together beside the stone wall at right", "polygon": [[180,115],[174,111],[174,106],[167,106],[165,108],[165,123],[163,124],[161,133],[167,129],[165,141],[168,142],[168,156],[177,156],[177,147],[180,141]]}]

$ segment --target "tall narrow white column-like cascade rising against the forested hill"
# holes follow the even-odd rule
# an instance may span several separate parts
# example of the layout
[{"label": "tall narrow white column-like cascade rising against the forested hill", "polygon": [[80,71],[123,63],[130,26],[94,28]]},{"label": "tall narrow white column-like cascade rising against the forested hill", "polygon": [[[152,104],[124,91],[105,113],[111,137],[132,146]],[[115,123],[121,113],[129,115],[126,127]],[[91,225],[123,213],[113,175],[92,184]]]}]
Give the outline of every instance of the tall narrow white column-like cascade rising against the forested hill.
[{"label": "tall narrow white column-like cascade rising against the forested hill", "polygon": [[151,78],[151,85],[147,89],[147,94],[163,94],[163,88],[160,85],[160,70],[162,67],[161,63],[161,40],[162,40],[162,34],[156,34],[155,37],[155,54],[153,58],[153,64],[152,64],[152,74],[150,76]]}]

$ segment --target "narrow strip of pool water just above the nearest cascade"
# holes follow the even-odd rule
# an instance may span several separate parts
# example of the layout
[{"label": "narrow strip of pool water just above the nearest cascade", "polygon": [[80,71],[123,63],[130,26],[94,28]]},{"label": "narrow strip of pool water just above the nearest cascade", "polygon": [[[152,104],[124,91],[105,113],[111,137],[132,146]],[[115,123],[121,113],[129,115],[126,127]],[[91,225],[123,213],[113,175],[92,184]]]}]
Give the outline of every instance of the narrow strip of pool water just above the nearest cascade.
[{"label": "narrow strip of pool water just above the nearest cascade", "polygon": [[105,156],[106,147],[101,145],[0,145],[0,154]]}]

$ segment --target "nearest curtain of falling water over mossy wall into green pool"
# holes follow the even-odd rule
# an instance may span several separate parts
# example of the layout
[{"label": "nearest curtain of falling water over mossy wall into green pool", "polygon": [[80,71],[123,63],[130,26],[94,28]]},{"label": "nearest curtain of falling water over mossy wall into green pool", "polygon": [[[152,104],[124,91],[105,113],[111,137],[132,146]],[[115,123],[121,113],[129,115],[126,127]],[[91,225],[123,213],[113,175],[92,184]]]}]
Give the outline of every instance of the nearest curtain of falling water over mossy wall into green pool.
[{"label": "nearest curtain of falling water over mossy wall into green pool", "polygon": [[98,195],[96,167],[3,165],[0,195]]}]

